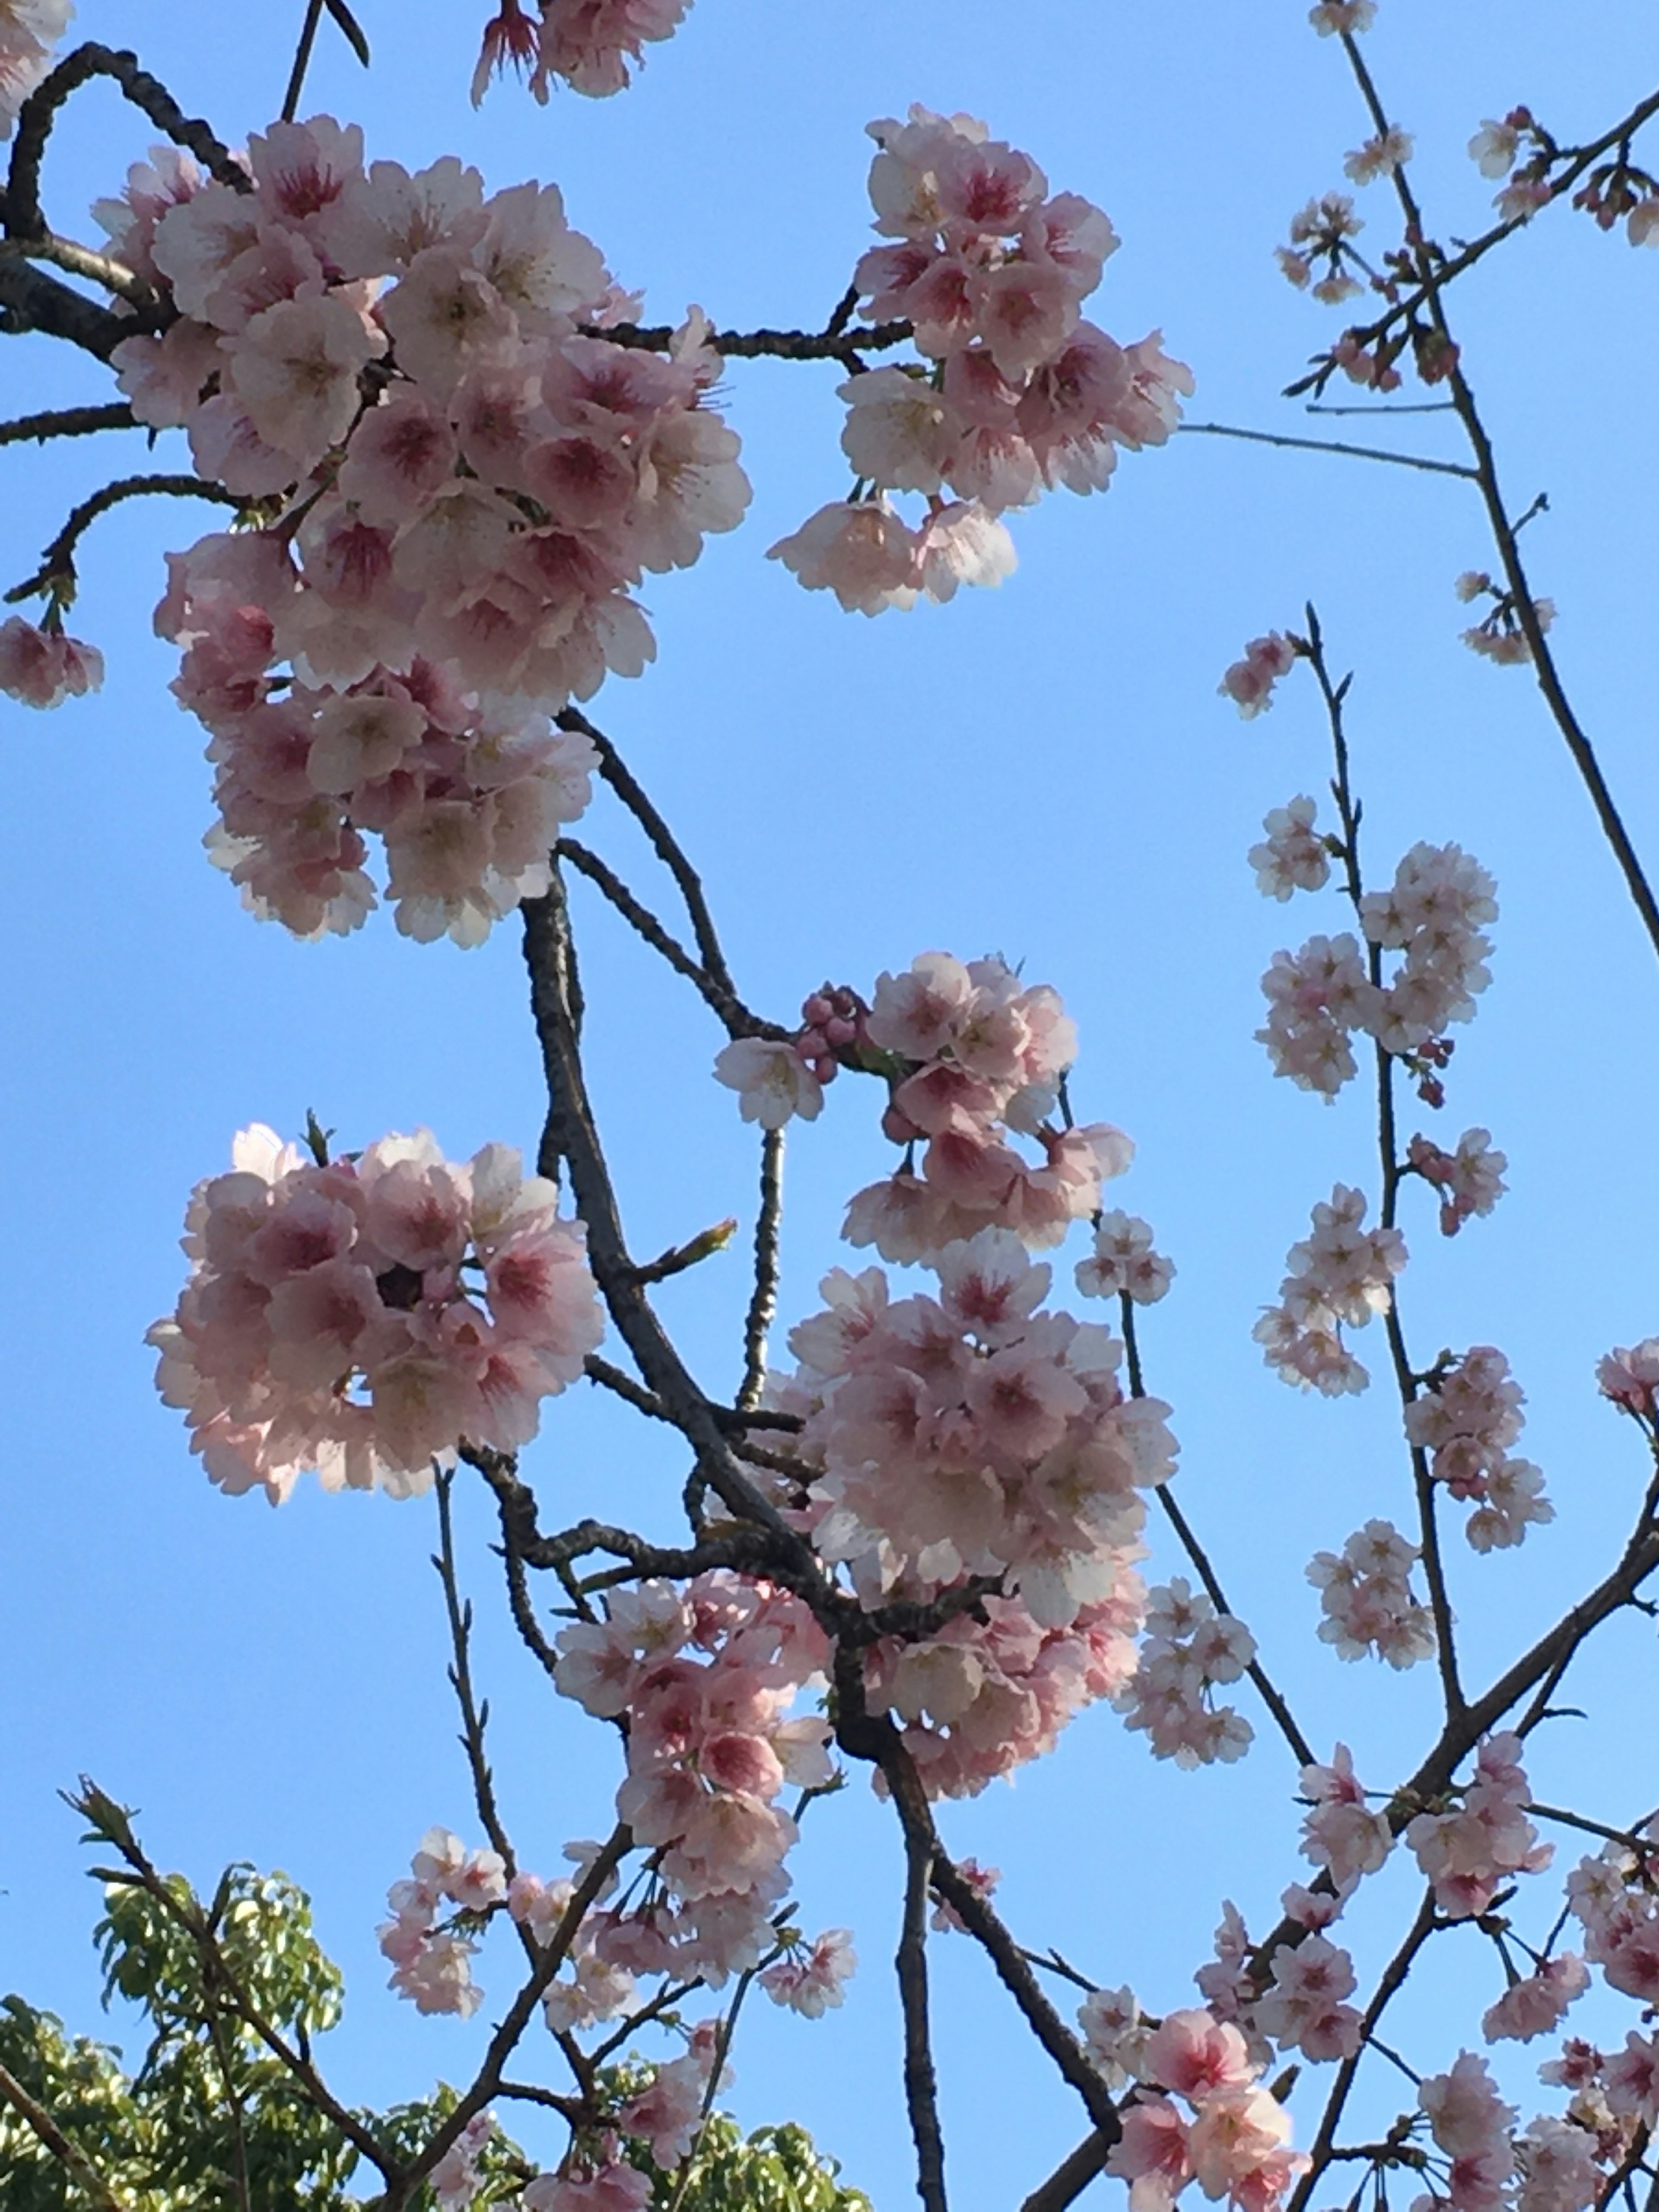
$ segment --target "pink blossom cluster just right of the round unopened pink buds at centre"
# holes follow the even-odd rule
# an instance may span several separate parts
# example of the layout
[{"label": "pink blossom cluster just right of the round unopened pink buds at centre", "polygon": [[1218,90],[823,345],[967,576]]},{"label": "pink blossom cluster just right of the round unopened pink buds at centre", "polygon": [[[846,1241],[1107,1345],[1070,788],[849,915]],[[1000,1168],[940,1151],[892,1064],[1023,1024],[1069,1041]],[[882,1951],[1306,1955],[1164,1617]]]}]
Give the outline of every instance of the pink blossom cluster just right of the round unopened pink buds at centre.
[{"label": "pink blossom cluster just right of the round unopened pink buds at centre", "polygon": [[[1055,1245],[1099,1212],[1102,1181],[1130,1164],[1135,1148],[1110,1124],[1057,1126],[1077,1029],[1057,991],[1022,984],[1004,960],[922,953],[883,975],[845,1055],[887,1075],[883,1128],[905,1164],[852,1199],[843,1234],[896,1265],[931,1263],[984,1228]],[[1013,1150],[1013,1135],[1040,1144],[1040,1166]]]}]

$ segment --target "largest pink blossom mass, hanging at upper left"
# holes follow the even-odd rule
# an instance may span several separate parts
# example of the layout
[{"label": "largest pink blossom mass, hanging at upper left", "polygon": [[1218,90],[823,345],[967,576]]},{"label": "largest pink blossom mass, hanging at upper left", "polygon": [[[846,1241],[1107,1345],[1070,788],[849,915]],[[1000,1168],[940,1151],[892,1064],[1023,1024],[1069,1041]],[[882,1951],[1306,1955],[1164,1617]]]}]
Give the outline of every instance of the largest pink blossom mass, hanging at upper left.
[{"label": "largest pink blossom mass, hanging at upper left", "polygon": [[633,303],[553,186],[365,170],[327,117],[272,124],[248,168],[237,190],[157,150],[97,210],[177,307],[115,349],[135,416],[263,515],[177,557],[157,611],[212,732],[217,858],[259,911],[349,929],[374,830],[405,927],[471,942],[586,801],[542,710],[637,675],[630,588],[743,515],[719,358],[701,316],[668,358],[591,334]]}]

